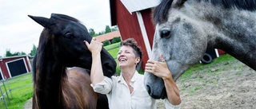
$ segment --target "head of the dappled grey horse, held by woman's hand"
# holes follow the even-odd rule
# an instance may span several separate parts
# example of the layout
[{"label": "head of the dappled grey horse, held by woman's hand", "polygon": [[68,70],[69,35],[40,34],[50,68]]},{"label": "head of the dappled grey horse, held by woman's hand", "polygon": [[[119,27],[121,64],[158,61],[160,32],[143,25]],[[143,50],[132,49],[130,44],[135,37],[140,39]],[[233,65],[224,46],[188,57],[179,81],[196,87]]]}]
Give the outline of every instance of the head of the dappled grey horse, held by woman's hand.
[{"label": "head of the dappled grey horse, held by woman's hand", "polygon": [[[177,80],[190,65],[201,60],[206,52],[206,33],[198,22],[186,18],[175,9],[169,10],[166,21],[161,20],[156,24],[150,59],[160,61],[162,55],[174,80]],[[145,72],[145,86],[154,99],[166,98],[161,78]]]}]

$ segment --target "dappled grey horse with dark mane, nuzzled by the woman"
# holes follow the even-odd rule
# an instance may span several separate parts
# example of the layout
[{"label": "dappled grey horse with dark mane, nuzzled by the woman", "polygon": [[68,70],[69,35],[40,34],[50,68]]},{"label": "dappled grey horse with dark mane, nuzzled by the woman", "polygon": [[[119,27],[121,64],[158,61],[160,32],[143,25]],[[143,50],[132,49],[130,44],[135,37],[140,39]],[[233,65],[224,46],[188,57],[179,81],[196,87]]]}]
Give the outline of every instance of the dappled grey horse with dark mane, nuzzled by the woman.
[{"label": "dappled grey horse with dark mane, nuzzled by the woman", "polygon": [[[222,49],[256,70],[256,0],[163,0],[154,9],[150,59],[163,55],[177,80],[206,49]],[[145,72],[145,86],[166,98],[163,80]]]}]

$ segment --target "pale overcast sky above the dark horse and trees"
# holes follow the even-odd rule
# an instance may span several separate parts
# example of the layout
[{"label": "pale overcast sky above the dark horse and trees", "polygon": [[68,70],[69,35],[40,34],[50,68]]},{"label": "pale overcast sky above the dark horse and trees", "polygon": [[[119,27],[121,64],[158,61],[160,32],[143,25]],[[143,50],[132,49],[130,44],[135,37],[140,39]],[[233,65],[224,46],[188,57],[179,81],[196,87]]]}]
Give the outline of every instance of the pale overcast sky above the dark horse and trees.
[{"label": "pale overcast sky above the dark horse and trees", "polygon": [[27,15],[50,18],[52,13],[77,18],[96,33],[110,25],[109,0],[0,0],[0,56],[6,49],[30,53],[43,28]]}]

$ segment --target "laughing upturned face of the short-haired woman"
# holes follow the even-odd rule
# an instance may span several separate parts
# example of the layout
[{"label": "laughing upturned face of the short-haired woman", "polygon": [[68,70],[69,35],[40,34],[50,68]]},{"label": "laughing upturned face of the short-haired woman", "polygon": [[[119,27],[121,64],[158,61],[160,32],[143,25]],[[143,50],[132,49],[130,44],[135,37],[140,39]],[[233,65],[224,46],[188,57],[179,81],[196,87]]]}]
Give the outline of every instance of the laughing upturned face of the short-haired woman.
[{"label": "laughing upturned face of the short-haired woman", "polygon": [[138,63],[138,57],[136,58],[134,49],[126,45],[119,49],[117,59],[119,68],[136,68],[136,63]]}]

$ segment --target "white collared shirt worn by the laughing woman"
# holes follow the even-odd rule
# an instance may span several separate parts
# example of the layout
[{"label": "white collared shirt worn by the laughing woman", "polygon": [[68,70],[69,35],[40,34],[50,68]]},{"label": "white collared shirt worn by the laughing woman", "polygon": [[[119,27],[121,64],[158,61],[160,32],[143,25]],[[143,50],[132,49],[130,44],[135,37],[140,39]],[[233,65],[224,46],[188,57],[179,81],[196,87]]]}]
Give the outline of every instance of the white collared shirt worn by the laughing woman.
[{"label": "white collared shirt worn by the laughing woman", "polygon": [[[130,80],[130,86],[134,91],[130,94],[130,90],[126,81],[121,76],[104,77],[104,80],[93,86],[94,91],[106,94],[109,101],[110,109],[156,109],[156,99],[150,97],[144,87],[144,76],[136,71]],[[166,109],[180,108],[181,105],[174,106],[169,103],[168,99],[163,100]]]}]

